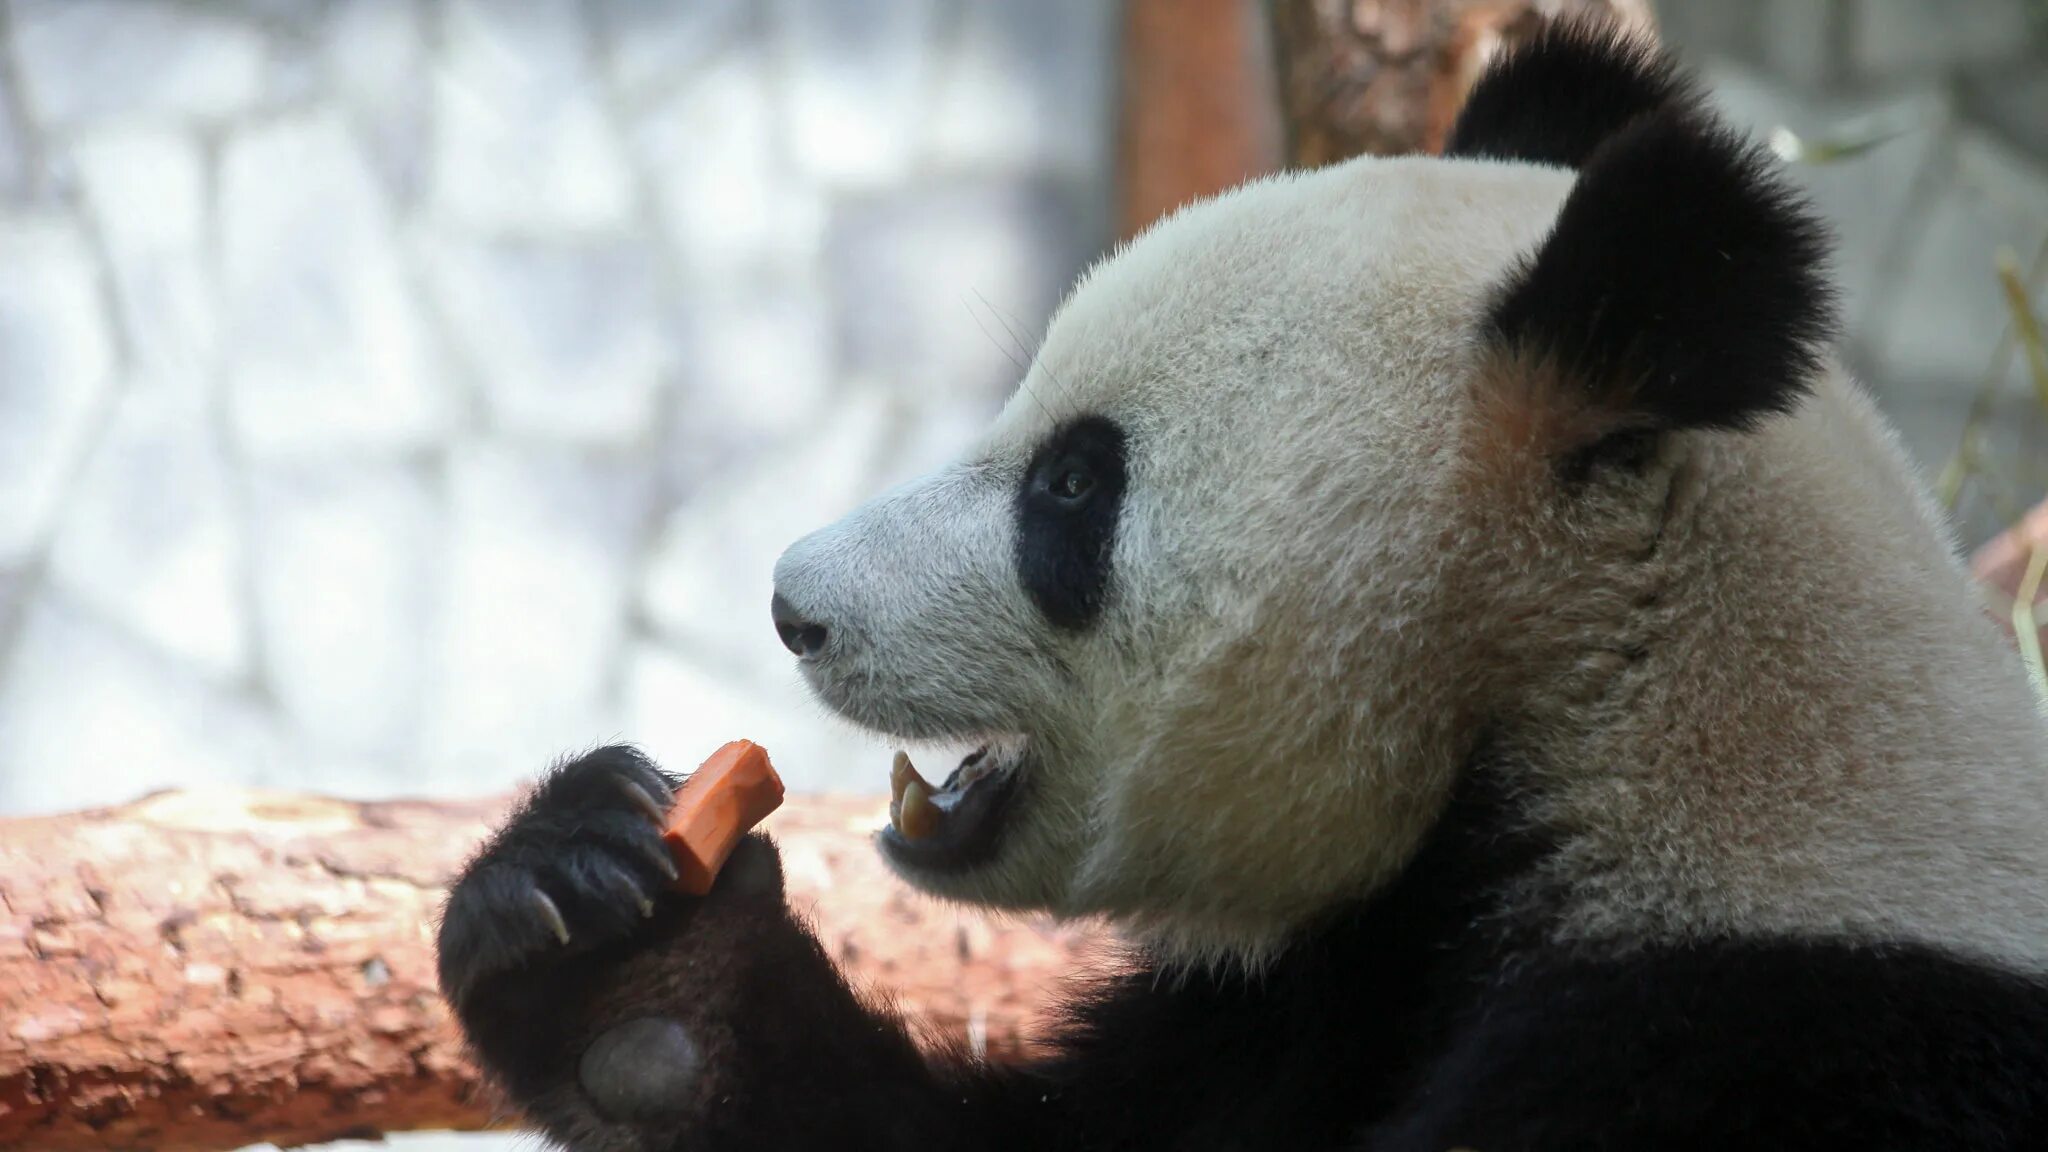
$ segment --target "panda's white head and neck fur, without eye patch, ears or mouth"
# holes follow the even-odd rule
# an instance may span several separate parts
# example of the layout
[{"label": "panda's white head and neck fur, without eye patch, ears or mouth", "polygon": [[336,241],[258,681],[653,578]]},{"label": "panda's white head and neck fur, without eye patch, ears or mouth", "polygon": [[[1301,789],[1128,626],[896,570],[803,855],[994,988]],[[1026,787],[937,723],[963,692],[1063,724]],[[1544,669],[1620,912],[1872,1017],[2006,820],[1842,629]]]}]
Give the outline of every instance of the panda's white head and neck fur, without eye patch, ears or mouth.
[{"label": "panda's white head and neck fur, without eye patch, ears or mouth", "polygon": [[[827,703],[1032,740],[1004,855],[913,883],[1257,959],[1399,873],[1489,726],[1563,836],[1565,935],[2048,963],[2044,726],[1851,383],[1583,504],[1493,426],[1479,318],[1569,184],[1356,160],[1190,207],[1083,279],[961,465],[784,556],[848,637],[807,666]],[[1130,488],[1108,613],[1067,635],[1012,508],[1079,414],[1126,428]]]}]

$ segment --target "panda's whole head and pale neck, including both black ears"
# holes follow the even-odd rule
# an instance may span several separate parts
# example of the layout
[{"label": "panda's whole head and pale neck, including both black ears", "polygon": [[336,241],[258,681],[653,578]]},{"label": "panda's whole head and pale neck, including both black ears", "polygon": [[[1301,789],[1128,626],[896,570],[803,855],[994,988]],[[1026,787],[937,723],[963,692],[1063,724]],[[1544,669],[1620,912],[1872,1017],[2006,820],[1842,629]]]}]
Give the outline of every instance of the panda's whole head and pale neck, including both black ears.
[{"label": "panda's whole head and pale neck, including both black ears", "polygon": [[776,566],[819,699],[952,748],[891,769],[883,855],[1260,963],[1473,781],[1556,939],[2038,968],[2038,713],[1827,355],[1825,252],[1686,78],[1575,35],[1446,158],[1159,223],[961,463]]}]

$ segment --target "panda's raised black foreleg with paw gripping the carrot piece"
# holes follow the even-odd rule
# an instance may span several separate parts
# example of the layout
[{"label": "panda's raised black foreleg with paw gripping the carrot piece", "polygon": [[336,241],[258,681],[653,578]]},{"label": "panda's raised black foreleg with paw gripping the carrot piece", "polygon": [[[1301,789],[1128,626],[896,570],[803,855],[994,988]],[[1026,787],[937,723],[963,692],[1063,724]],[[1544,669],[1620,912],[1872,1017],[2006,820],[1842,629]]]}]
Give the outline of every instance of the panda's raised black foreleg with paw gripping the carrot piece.
[{"label": "panda's raised black foreleg with paw gripping the carrot piece", "polygon": [[629,748],[551,773],[465,869],[440,980],[481,1066],[578,1150],[1051,1148],[967,1062],[860,1002],[748,836],[674,892],[672,781]]}]

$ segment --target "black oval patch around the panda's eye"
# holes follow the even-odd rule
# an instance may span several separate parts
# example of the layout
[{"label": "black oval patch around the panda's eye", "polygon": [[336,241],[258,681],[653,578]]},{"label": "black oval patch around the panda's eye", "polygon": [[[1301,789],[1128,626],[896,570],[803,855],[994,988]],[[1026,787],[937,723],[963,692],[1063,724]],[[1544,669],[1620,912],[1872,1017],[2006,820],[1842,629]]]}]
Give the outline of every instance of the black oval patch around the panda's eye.
[{"label": "black oval patch around the panda's eye", "polygon": [[1061,426],[1024,469],[1018,578],[1055,627],[1079,631],[1102,615],[1124,480],[1124,430],[1102,416]]}]

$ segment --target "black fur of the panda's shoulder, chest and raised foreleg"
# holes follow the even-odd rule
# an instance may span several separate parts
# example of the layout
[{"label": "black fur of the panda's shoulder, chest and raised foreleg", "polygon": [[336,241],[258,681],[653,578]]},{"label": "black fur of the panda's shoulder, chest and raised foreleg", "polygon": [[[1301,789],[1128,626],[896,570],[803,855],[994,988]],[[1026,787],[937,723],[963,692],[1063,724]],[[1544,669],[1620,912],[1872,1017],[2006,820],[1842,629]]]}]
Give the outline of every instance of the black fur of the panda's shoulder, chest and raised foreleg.
[{"label": "black fur of the panda's shoulder, chest and raised foreleg", "polygon": [[[602,756],[555,783],[602,779]],[[1503,775],[1468,767],[1403,879],[1268,972],[1141,959],[1022,1066],[920,1052],[860,1002],[758,836],[709,898],[662,896],[627,939],[463,955],[520,935],[516,904],[475,898],[510,845],[629,867],[584,820],[598,785],[543,791],[465,873],[442,963],[469,974],[453,998],[483,1066],[602,1152],[2048,1148],[2048,986],[1915,945],[1546,943],[1540,900],[1505,914],[1548,845],[1516,832]],[[608,886],[573,890],[578,922],[631,918]],[[688,1068],[637,1068],[662,1058]]]}]

